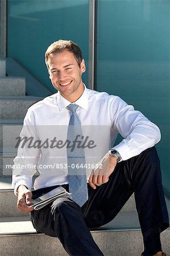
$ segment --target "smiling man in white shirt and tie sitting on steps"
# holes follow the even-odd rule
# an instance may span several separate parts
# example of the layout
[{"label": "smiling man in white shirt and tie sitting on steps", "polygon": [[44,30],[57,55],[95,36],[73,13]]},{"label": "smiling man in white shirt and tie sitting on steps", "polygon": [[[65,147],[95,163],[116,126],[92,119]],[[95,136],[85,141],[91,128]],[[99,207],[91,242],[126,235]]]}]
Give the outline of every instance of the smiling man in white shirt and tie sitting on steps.
[{"label": "smiling man in white shirt and tie sitting on steps", "polygon": [[[67,126],[69,134],[71,126],[80,127],[81,123],[81,126],[109,127],[109,134],[101,134],[101,137],[105,141],[110,137],[112,147],[118,133],[125,139],[109,153],[105,152],[102,168],[92,168],[87,176],[88,195],[83,203],[80,200],[84,197],[85,186],[81,187],[80,200],[77,199],[78,195],[74,196],[72,187],[77,170],[71,173],[67,166],[66,170],[57,168],[56,172],[50,172],[40,168],[45,163],[57,161],[48,147],[32,148],[31,152],[28,148],[19,148],[15,164],[26,164],[31,159],[31,163],[38,165],[40,176],[35,180],[35,189],[42,188],[43,192],[47,192],[48,188],[50,191],[51,187],[56,185],[57,189],[61,185],[72,192],[73,200],[60,197],[40,210],[28,207],[32,204],[32,176],[36,168],[14,169],[13,186],[15,195],[18,195],[18,209],[31,212],[35,229],[58,237],[69,255],[103,255],[89,230],[113,220],[134,192],[143,234],[142,255],[165,255],[161,249],[160,232],[168,228],[169,223],[161,187],[159,158],[154,147],[160,140],[158,127],[121,98],[85,87],[82,82],[85,62],[77,44],[65,40],[54,42],[45,53],[45,63],[52,85],[58,92],[28,109],[21,137],[30,135],[35,141],[38,138],[42,141],[43,132],[39,126],[48,126],[45,130],[48,137],[50,127],[57,126],[57,133],[60,127]],[[30,126],[31,130],[28,129]],[[65,139],[68,139],[67,136]],[[75,156],[69,155],[71,150],[68,148],[63,151],[60,160],[67,159],[70,163]],[[105,142],[101,148],[107,148]],[[87,187],[87,183],[84,185]]]}]

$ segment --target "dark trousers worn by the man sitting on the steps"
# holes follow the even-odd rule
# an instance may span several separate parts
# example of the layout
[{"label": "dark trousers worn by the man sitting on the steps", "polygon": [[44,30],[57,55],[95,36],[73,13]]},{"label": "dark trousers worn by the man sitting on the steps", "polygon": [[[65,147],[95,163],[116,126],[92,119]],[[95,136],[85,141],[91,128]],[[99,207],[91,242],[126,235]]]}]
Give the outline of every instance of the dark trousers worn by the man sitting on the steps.
[{"label": "dark trousers worn by the man sitting on the steps", "polygon": [[[68,185],[64,186],[68,189]],[[89,186],[88,192],[89,199],[81,208],[71,199],[60,197],[32,211],[34,228],[58,237],[69,255],[103,255],[90,229],[113,220],[134,192],[143,234],[143,255],[161,251],[160,232],[168,228],[169,220],[155,147],[118,163],[107,183],[97,189]]]}]

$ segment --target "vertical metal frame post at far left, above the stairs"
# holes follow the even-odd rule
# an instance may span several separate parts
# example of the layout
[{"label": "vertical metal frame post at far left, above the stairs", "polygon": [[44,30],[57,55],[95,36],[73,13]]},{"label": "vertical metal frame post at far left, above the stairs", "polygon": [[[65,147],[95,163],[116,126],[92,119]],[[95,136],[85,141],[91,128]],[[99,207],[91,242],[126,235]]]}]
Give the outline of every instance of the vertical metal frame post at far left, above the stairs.
[{"label": "vertical metal frame post at far left, above the stairs", "polygon": [[0,57],[6,57],[6,0],[1,0],[1,37],[0,37]]}]

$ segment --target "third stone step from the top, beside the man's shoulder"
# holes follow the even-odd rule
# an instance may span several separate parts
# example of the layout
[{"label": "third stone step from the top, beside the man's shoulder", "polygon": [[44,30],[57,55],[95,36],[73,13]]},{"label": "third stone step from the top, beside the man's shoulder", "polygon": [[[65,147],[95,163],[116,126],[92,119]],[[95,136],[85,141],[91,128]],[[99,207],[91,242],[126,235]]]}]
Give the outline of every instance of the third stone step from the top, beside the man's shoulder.
[{"label": "third stone step from the top, beside the man's shoulder", "polygon": [[3,96],[0,98],[0,117],[1,119],[23,119],[27,109],[40,97],[32,96]]}]

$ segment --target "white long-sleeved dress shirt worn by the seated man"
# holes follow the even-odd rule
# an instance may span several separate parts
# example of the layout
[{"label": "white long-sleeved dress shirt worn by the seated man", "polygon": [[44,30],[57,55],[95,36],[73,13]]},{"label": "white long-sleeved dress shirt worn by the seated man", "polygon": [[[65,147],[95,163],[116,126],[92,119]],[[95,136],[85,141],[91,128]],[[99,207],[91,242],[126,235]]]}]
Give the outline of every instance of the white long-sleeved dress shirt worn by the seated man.
[{"label": "white long-sleeved dress shirt worn by the seated man", "polygon": [[[89,127],[89,129],[93,126],[109,127],[109,133],[106,132],[105,134],[103,130],[100,133],[100,129],[97,129],[100,135],[97,136],[101,138],[99,139],[101,142],[99,147],[102,149],[100,155],[103,154],[104,156],[109,147],[114,147],[121,155],[122,160],[127,160],[132,156],[139,155],[140,152],[160,141],[159,128],[144,117],[142,113],[134,110],[133,106],[127,105],[125,101],[117,96],[109,95],[105,92],[96,92],[95,90],[87,89],[85,86],[84,93],[74,103],[79,106],[76,112],[82,126]],[[52,127],[58,127],[57,129],[55,128],[55,132],[62,133],[65,137],[67,129],[63,127],[68,127],[71,117],[71,112],[67,109],[69,104],[71,102],[57,92],[32,105],[24,118],[22,135],[20,136],[32,136],[34,139],[43,141],[45,136],[46,138],[52,138]],[[47,128],[43,129],[45,135],[41,127]],[[61,129],[63,131],[60,131]],[[114,146],[118,134],[121,134],[125,139]],[[18,155],[14,158],[14,165],[26,165],[29,163],[37,166],[40,175],[35,180],[35,189],[68,184],[67,168],[59,168],[59,165],[51,171],[45,167],[45,164],[53,164],[56,161],[59,164],[65,163],[67,150],[63,148],[63,151],[60,152],[57,151],[57,158],[54,158],[49,148],[32,148],[29,151],[26,147],[19,148]],[[44,168],[42,168],[43,166]],[[28,189],[32,188],[32,176],[35,173],[36,168],[32,166],[14,168],[13,187],[15,194],[19,185],[25,185]]]}]

